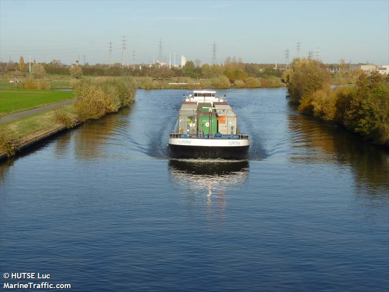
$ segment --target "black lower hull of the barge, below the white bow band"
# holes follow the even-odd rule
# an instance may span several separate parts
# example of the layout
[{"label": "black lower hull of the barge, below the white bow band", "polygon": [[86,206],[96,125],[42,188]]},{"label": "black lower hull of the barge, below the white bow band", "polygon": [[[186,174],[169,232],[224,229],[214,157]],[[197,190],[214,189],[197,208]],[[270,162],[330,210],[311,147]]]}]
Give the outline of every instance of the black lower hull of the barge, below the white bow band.
[{"label": "black lower hull of the barge, below the white bow band", "polygon": [[248,158],[249,146],[183,146],[168,145],[171,158],[221,158],[242,160]]}]

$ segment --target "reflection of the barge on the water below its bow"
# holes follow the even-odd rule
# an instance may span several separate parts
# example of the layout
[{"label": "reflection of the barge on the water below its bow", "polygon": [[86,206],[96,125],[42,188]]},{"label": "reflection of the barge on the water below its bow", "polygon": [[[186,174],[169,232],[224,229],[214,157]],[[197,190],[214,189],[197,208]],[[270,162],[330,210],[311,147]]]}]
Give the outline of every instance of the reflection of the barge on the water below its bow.
[{"label": "reflection of the barge on the water below its bow", "polygon": [[212,207],[215,203],[215,207],[221,212],[226,207],[226,191],[246,181],[248,168],[248,161],[169,161],[172,181],[184,188],[190,201],[205,199],[207,207]]}]

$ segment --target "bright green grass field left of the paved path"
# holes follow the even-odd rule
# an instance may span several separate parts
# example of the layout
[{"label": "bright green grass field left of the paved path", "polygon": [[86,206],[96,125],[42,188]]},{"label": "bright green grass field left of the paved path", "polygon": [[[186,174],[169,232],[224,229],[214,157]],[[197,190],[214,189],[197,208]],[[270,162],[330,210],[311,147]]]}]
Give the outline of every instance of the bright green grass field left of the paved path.
[{"label": "bright green grass field left of the paved path", "polygon": [[73,95],[73,91],[0,88],[0,115],[64,101]]}]

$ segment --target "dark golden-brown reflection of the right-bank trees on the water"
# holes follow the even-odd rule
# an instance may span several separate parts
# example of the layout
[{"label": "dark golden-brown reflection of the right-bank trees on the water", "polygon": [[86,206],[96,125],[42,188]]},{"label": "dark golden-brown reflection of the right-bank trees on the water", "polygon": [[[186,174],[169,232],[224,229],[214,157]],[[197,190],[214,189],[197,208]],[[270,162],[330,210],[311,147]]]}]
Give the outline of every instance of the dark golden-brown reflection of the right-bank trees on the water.
[{"label": "dark golden-brown reflection of the right-bank trees on the water", "polygon": [[[389,190],[389,151],[364,140],[343,127],[316,118],[288,115],[294,163],[331,163],[350,167],[355,184],[369,189]],[[389,191],[388,191],[389,197]]]}]

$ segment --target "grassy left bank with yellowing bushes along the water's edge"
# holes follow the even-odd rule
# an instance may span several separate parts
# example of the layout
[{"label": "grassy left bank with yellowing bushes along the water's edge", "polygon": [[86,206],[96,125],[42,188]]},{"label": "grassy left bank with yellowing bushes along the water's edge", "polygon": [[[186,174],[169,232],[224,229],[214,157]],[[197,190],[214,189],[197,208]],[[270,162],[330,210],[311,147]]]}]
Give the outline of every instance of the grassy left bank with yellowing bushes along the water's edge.
[{"label": "grassy left bank with yellowing bushes along the water's edge", "polygon": [[99,119],[135,100],[135,84],[130,78],[99,82],[84,80],[75,88],[74,104],[0,124],[0,158],[79,123]]}]

